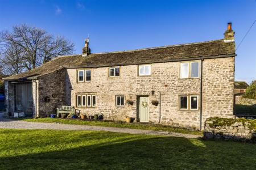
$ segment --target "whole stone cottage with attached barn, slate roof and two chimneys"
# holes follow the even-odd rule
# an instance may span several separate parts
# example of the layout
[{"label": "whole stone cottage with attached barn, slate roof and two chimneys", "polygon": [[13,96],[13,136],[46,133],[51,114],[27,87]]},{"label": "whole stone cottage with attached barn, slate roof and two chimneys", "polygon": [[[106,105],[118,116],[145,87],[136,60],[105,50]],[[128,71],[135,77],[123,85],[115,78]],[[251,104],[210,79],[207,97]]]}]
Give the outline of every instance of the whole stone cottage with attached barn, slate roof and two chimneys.
[{"label": "whole stone cottage with attached barn, slate roof and two chimneys", "polygon": [[5,78],[6,115],[46,116],[58,105],[107,120],[201,129],[211,116],[233,117],[234,31],[224,39],[109,53],[60,56]]}]

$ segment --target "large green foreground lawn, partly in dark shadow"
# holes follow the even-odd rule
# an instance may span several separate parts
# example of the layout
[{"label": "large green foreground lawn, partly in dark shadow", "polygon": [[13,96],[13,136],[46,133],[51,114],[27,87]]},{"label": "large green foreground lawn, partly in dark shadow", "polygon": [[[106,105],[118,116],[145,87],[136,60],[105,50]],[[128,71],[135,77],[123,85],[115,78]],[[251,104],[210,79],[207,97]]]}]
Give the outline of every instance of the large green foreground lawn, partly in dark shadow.
[{"label": "large green foreground lawn, partly in dark shadow", "polygon": [[255,169],[256,145],[112,133],[0,129],[0,169]]}]

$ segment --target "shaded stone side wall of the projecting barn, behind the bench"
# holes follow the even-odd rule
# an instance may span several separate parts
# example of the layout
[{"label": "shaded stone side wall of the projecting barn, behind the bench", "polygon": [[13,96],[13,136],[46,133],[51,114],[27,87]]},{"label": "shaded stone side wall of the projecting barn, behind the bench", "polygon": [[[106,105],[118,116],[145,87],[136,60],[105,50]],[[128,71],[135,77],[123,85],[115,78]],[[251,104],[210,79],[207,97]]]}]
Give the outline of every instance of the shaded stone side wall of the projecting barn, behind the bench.
[{"label": "shaded stone side wall of the projecting barn, behind the bench", "polygon": [[[38,116],[44,117],[47,114],[56,113],[56,107],[58,105],[66,104],[65,73],[65,69],[61,69],[38,79]],[[49,101],[46,101],[46,97]]]}]

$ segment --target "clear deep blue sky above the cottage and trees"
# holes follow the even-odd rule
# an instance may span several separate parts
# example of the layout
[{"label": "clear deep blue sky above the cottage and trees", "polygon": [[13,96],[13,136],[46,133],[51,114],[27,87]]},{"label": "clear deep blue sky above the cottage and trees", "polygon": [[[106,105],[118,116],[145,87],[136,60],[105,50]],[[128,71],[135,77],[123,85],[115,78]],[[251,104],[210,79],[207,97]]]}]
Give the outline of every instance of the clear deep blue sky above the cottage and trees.
[{"label": "clear deep blue sky above the cottage and trees", "polygon": [[[0,30],[26,23],[92,53],[222,39],[233,22],[237,45],[256,19],[255,0],[0,0]],[[256,24],[237,50],[236,80],[256,79]]]}]

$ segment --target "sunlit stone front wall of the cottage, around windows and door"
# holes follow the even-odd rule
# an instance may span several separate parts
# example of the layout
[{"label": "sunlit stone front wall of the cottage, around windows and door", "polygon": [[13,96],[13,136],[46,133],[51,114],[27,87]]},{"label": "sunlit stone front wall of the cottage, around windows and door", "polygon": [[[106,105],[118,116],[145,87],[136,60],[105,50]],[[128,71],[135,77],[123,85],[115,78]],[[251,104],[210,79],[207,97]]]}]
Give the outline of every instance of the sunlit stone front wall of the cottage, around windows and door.
[{"label": "sunlit stone front wall of the cottage, around windows and door", "polygon": [[[77,94],[95,94],[96,107],[80,109],[85,114],[103,113],[109,120],[137,119],[137,96],[149,97],[149,121],[179,125],[185,128],[200,126],[200,78],[179,79],[180,62],[152,63],[151,76],[138,76],[138,65],[121,66],[120,76],[109,77],[109,67],[92,68],[91,82],[77,82],[76,69],[68,69],[65,100],[76,106]],[[204,59],[203,61],[203,122],[207,117],[233,116],[234,58]],[[155,91],[152,95],[151,91]],[[115,95],[125,95],[134,105],[115,106]],[[156,107],[151,101],[161,101]],[[198,95],[199,109],[181,111],[179,95]],[[161,107],[161,111],[160,111]]]}]

